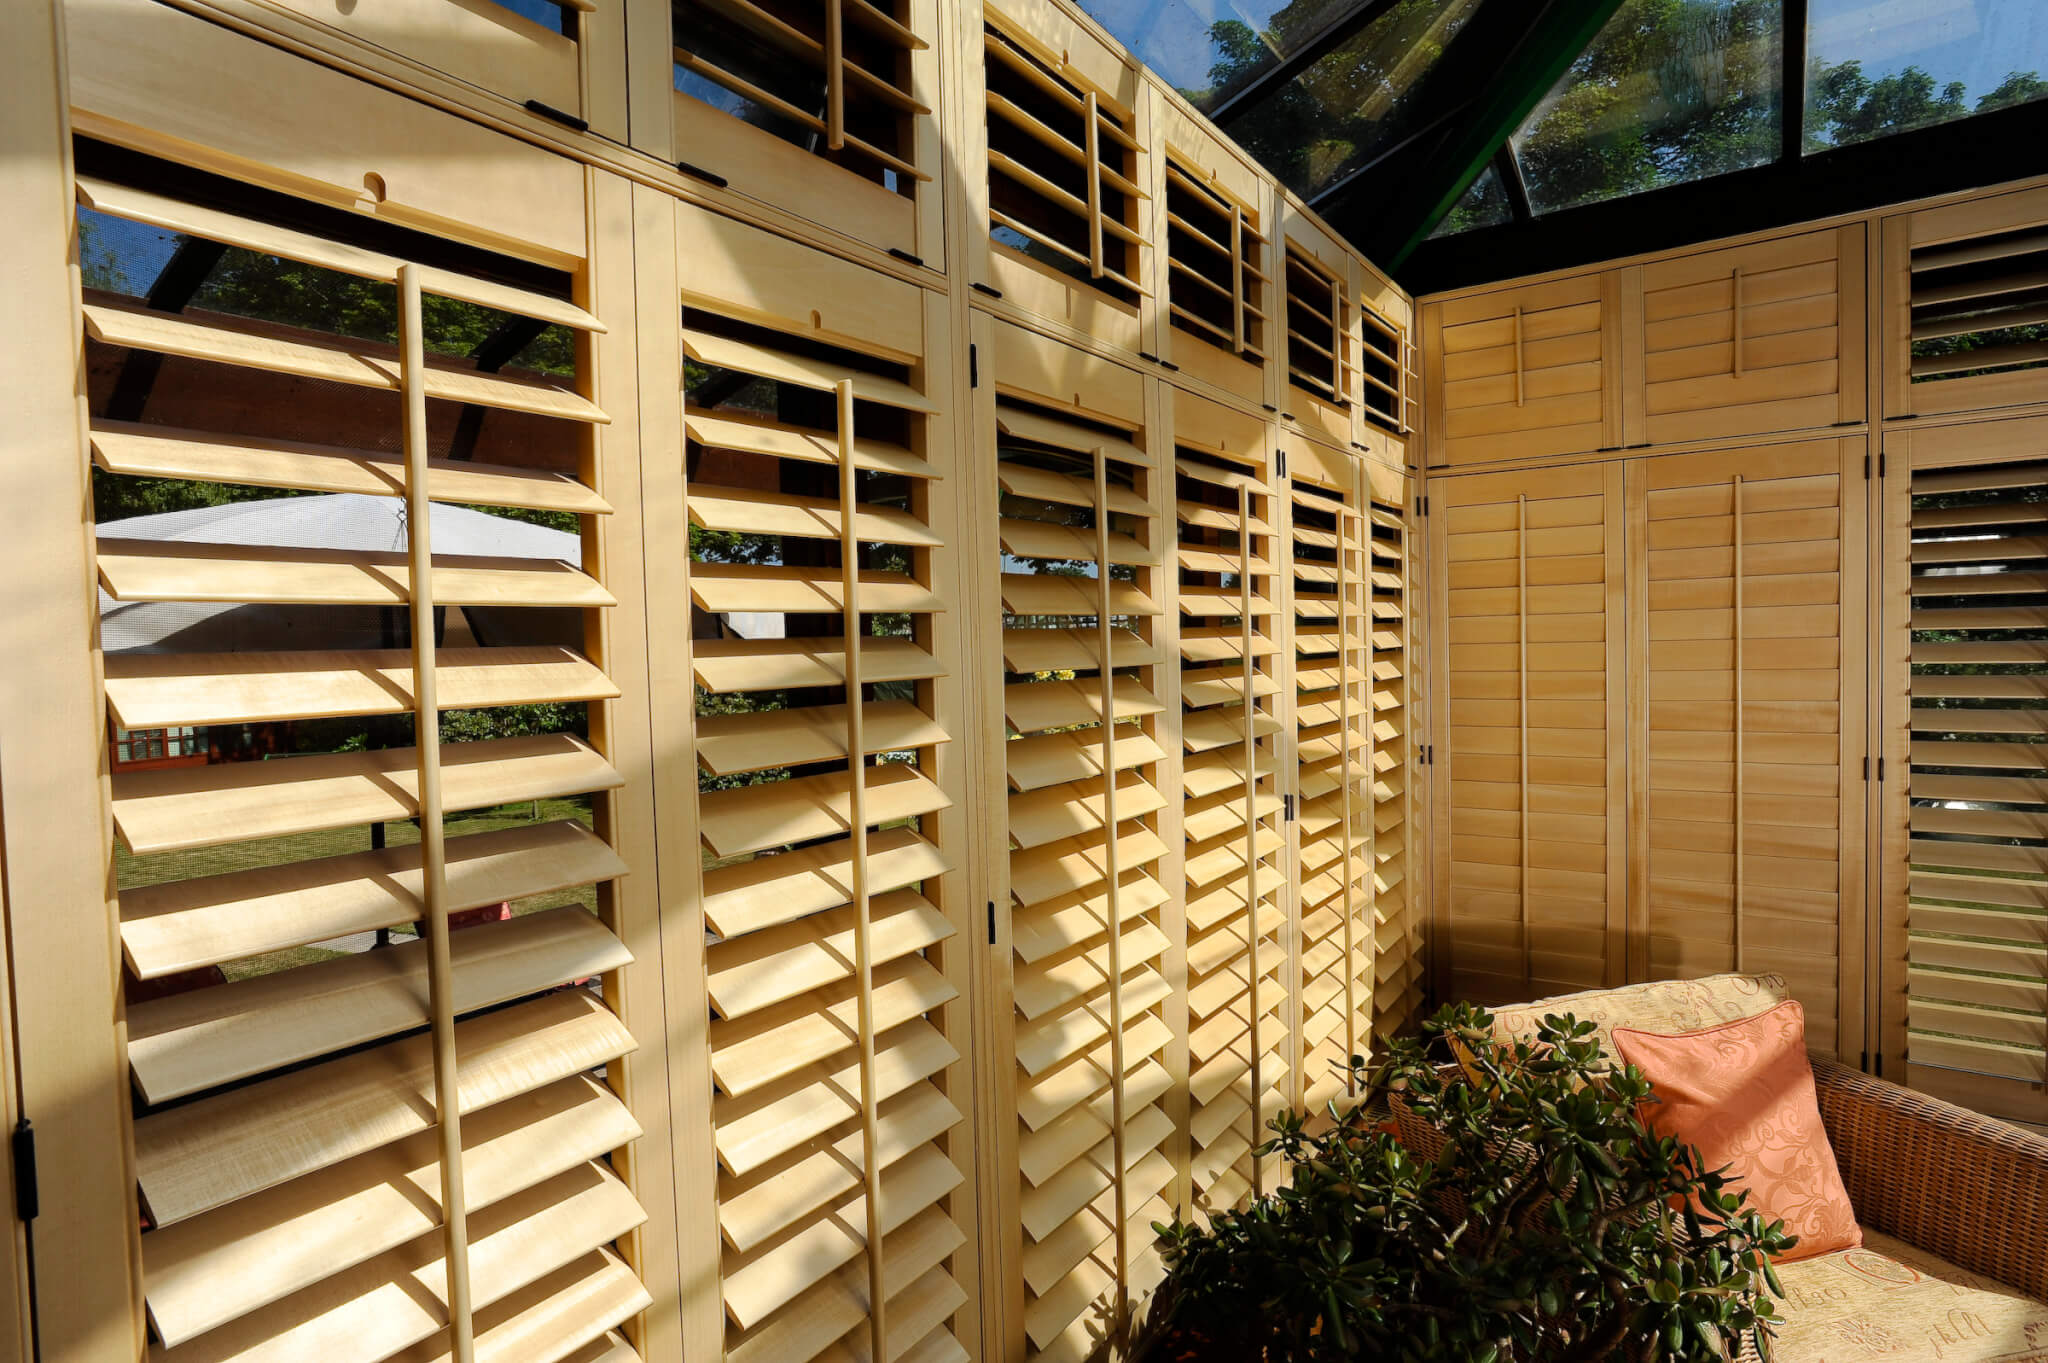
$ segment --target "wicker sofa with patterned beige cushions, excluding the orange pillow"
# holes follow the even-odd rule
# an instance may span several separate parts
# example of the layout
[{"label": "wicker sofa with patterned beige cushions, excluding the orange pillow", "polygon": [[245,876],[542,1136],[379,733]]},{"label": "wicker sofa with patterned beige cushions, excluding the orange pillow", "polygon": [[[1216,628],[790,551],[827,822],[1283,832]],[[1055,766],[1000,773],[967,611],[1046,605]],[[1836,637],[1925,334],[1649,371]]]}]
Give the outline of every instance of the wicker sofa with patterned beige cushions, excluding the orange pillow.
[{"label": "wicker sofa with patterned beige cushions, excluding the orange pillow", "polygon": [[[1780,976],[1714,976],[1501,1009],[1528,1034],[1546,1013],[1690,1031],[1790,997]],[[1815,1060],[1821,1119],[1864,1248],[1778,1269],[1778,1363],[2048,1363],[2048,1140]]]}]

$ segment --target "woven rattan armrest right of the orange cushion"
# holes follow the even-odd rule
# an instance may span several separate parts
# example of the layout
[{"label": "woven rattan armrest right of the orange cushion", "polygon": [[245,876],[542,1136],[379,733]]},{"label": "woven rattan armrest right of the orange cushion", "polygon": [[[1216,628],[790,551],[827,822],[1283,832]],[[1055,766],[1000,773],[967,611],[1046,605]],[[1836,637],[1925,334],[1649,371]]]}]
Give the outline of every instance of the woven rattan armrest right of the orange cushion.
[{"label": "woven rattan armrest right of the orange cushion", "polygon": [[1858,1222],[2048,1300],[2048,1140],[1831,1060],[1812,1076]]}]

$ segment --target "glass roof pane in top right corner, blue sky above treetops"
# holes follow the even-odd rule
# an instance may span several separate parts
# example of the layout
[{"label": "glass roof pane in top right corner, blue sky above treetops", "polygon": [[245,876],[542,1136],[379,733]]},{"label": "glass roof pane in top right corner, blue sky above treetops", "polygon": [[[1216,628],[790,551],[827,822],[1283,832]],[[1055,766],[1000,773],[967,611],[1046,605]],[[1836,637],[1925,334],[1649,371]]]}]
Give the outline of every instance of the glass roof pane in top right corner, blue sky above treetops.
[{"label": "glass roof pane in top right corner, blue sky above treetops", "polygon": [[1812,0],[1806,149],[2048,94],[2042,0]]}]

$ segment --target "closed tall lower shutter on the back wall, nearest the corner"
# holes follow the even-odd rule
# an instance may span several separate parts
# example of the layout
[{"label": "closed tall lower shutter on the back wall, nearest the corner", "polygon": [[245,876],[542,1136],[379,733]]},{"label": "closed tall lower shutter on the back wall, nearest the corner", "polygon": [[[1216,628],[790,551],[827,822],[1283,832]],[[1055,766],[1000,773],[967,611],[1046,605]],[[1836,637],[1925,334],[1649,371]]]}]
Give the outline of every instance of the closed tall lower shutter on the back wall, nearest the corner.
[{"label": "closed tall lower shutter on the back wall, nearest the corner", "polygon": [[1448,712],[1436,718],[1452,997],[1622,978],[1620,467],[1432,483]]}]

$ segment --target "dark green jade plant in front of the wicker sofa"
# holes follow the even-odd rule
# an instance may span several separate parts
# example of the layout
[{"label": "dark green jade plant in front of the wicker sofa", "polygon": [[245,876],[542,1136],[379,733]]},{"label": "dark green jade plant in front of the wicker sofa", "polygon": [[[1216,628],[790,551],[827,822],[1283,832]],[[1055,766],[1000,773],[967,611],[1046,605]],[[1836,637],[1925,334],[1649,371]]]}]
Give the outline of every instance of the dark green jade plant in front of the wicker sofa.
[{"label": "dark green jade plant in front of the wicker sofa", "polygon": [[1769,1357],[1792,1236],[1645,1128],[1651,1085],[1593,1023],[1497,1040],[1452,1005],[1348,1068],[1352,1105],[1270,1124],[1276,1191],[1155,1226],[1182,1343],[1268,1363]]}]

